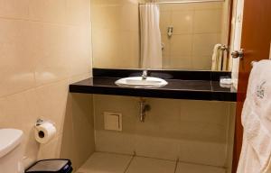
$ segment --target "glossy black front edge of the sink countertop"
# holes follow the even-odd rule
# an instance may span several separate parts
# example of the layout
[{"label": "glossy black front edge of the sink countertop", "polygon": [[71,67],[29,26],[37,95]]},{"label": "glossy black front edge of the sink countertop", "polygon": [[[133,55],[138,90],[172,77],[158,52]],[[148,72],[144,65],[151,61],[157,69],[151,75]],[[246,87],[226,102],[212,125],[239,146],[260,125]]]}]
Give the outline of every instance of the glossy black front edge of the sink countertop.
[{"label": "glossy black front edge of the sink countertop", "polygon": [[172,99],[190,99],[190,100],[226,101],[226,102],[237,101],[237,93],[229,91],[224,92],[213,90],[183,90],[177,88],[150,89],[150,88],[111,87],[111,86],[90,86],[90,85],[88,86],[88,85],[79,85],[79,82],[70,84],[69,91],[70,93],[99,94],[113,96],[140,96],[140,97],[142,96],[154,98],[172,98]]}]

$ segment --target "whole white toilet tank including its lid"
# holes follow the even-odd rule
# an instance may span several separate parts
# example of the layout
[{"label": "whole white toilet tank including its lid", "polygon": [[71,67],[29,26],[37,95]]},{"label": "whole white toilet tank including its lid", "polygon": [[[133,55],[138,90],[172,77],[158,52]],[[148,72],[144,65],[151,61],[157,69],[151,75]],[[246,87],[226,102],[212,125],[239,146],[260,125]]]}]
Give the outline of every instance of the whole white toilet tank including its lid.
[{"label": "whole white toilet tank including its lid", "polygon": [[0,129],[0,172],[23,173],[23,132],[15,129]]}]

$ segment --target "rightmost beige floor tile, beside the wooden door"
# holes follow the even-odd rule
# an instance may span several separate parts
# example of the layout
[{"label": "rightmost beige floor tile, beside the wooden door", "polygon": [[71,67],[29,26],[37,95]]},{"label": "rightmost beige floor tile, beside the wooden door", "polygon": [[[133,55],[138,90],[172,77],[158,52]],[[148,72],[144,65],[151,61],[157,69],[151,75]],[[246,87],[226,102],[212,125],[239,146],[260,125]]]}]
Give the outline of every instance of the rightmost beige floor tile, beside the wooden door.
[{"label": "rightmost beige floor tile, beside the wooden door", "polygon": [[178,163],[176,173],[225,173],[224,168],[210,167],[204,165]]}]

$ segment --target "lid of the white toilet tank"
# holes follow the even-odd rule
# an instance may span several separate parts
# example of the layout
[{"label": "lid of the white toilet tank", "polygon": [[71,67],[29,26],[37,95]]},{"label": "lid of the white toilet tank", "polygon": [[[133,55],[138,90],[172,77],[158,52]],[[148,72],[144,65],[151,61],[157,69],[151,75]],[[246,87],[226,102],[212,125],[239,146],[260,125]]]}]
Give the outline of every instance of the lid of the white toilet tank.
[{"label": "lid of the white toilet tank", "polygon": [[23,131],[16,129],[0,129],[0,158],[17,147],[23,138]]}]

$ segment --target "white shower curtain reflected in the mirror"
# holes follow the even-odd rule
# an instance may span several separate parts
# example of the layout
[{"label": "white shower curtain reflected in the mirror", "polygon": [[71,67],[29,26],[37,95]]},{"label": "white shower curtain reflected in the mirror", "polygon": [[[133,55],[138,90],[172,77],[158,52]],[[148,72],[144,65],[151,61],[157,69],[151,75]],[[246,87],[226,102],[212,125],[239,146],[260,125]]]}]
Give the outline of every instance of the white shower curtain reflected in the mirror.
[{"label": "white shower curtain reflected in the mirror", "polygon": [[140,5],[141,68],[162,68],[162,41],[159,7]]}]

